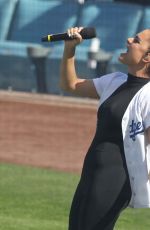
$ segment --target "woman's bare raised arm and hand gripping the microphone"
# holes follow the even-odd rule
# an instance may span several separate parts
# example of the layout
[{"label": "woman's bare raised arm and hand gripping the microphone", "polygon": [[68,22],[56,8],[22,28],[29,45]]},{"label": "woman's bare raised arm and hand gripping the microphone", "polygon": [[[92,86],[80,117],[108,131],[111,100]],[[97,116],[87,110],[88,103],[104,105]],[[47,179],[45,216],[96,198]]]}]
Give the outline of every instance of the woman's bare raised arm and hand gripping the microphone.
[{"label": "woman's bare raised arm and hand gripping the microphone", "polygon": [[71,28],[68,34],[75,39],[66,41],[60,67],[60,86],[64,91],[77,96],[99,98],[92,80],[79,78],[75,69],[75,49],[82,42],[80,28]]}]

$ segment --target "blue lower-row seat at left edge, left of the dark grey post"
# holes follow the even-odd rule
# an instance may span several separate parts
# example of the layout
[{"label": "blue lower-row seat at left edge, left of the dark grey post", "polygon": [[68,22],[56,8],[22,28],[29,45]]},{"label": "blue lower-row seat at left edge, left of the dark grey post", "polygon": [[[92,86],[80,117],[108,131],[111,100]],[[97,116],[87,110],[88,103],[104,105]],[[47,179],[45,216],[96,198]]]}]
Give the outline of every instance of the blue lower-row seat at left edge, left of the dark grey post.
[{"label": "blue lower-row seat at left edge, left of the dark grey post", "polygon": [[[31,45],[33,47],[33,44]],[[37,91],[36,76],[33,65],[27,57],[25,43],[0,42],[0,88]]]}]

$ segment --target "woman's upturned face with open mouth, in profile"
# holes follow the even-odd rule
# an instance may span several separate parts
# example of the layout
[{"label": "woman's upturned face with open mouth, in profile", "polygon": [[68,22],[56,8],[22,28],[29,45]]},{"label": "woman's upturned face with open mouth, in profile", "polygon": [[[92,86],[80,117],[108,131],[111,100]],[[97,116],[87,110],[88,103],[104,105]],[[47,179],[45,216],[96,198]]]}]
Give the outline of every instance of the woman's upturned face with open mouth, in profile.
[{"label": "woman's upturned face with open mouth, in profile", "polygon": [[127,39],[127,52],[120,54],[119,61],[130,67],[140,68],[144,64],[143,58],[146,57],[149,48],[150,30],[144,30],[134,38]]}]

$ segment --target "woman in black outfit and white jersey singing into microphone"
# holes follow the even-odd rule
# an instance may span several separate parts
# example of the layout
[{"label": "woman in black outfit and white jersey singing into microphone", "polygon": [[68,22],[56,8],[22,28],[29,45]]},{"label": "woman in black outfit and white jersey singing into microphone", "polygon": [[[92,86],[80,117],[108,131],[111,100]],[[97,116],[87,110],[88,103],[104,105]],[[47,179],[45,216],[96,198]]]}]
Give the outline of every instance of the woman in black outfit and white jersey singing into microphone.
[{"label": "woman in black outfit and white jersey singing into microphone", "polygon": [[119,60],[128,75],[112,73],[93,80],[75,70],[82,27],[65,42],[61,87],[100,100],[97,129],[86,154],[71,206],[69,230],[112,230],[127,206],[150,207],[150,30],[127,39]]}]

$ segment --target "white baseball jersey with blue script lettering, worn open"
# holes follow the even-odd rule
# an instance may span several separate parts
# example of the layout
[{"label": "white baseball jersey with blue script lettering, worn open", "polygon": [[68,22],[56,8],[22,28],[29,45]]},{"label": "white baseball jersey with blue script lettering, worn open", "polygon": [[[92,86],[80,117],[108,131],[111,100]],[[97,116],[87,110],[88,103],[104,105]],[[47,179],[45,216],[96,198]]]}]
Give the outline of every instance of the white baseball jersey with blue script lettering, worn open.
[{"label": "white baseball jersey with blue script lettering, worn open", "polygon": [[[100,105],[124,82],[127,75],[116,72],[93,79]],[[122,118],[125,158],[132,189],[129,203],[134,208],[150,207],[150,148],[145,130],[150,127],[150,82],[130,101]]]}]

